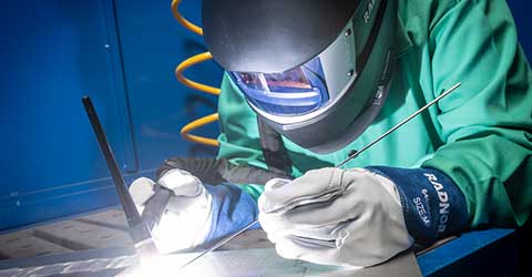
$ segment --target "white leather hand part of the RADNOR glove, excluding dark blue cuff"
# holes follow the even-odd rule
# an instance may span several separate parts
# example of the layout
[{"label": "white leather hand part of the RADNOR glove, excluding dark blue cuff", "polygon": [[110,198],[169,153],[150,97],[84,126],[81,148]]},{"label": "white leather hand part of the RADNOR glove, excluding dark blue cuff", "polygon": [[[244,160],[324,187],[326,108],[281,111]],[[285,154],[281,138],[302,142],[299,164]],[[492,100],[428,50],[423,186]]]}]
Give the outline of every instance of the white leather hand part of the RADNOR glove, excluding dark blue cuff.
[{"label": "white leather hand part of the RADNOR glove, excluding dark blue cuff", "polygon": [[259,220],[285,258],[372,266],[408,249],[395,184],[366,170],[321,168],[272,179],[258,199]]}]

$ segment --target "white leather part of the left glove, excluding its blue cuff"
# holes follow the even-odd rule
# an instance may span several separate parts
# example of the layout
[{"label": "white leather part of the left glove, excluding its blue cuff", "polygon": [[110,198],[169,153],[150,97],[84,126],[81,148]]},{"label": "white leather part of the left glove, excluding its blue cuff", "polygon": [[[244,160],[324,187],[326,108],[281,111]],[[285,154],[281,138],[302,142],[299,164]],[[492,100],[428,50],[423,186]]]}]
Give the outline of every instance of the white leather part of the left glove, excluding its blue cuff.
[{"label": "white leather part of the left glove, excluding its blue cuff", "polygon": [[[197,177],[181,170],[168,171],[158,184],[174,195],[152,230],[157,250],[166,254],[203,244],[211,229],[212,195]],[[130,194],[140,214],[154,195],[154,185],[152,179],[141,177],[130,186]]]}]

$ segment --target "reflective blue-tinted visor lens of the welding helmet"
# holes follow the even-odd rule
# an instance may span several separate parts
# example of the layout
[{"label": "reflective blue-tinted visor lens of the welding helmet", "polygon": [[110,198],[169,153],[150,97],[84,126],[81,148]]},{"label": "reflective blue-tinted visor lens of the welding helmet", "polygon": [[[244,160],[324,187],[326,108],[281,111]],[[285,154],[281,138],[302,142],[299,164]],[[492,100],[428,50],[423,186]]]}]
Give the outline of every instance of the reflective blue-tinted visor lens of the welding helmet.
[{"label": "reflective blue-tinted visor lens of the welding helmet", "polygon": [[280,73],[229,72],[229,76],[253,105],[269,114],[298,116],[329,100],[319,57]]}]

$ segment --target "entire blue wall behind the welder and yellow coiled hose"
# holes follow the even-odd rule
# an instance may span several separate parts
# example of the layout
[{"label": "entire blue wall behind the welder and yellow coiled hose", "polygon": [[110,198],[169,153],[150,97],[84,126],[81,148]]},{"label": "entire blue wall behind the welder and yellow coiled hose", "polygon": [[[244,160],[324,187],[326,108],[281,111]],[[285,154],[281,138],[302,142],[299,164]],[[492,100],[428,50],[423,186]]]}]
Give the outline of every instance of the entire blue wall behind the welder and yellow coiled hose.
[{"label": "entire blue wall behind the welder and yellow coiled hose", "polygon": [[[214,155],[181,126],[216,99],[181,85],[174,68],[205,51],[170,0],[4,1],[0,9],[0,230],[116,204],[80,99],[90,95],[127,178],[172,155]],[[509,1],[532,57],[528,1]],[[200,22],[198,0],[182,11]],[[216,85],[209,62],[187,75]],[[217,134],[215,124],[201,131]]]}]

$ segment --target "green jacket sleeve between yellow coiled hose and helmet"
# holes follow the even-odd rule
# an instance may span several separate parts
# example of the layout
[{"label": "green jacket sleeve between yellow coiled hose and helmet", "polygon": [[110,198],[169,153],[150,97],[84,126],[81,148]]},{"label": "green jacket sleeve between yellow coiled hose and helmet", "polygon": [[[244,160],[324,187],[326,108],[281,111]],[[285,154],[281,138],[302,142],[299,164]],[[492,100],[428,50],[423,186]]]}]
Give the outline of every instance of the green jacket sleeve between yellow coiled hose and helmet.
[{"label": "green jacket sleeve between yellow coiled hose and helmet", "polygon": [[[218,158],[227,158],[235,165],[253,165],[267,168],[264,161],[258,135],[257,117],[246,100],[224,74],[222,94],[218,99],[219,127]],[[264,186],[239,185],[239,187],[257,199]]]}]

